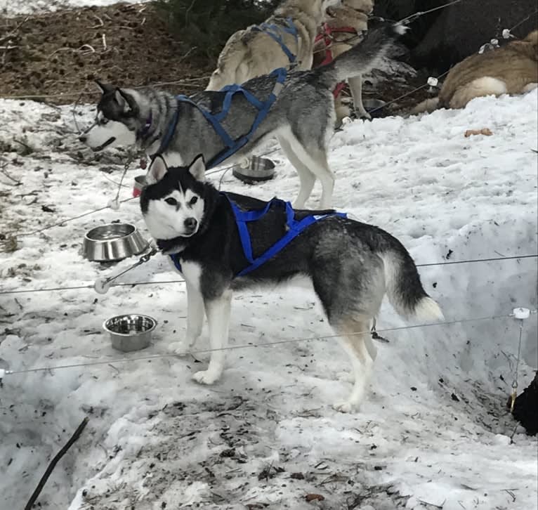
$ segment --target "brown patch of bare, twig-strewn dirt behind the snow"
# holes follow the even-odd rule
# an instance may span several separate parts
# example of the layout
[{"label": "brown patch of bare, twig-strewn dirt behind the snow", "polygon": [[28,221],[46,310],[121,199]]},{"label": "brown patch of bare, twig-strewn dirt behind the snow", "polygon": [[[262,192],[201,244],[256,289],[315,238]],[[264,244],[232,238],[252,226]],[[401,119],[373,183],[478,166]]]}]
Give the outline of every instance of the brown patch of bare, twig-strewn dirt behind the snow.
[{"label": "brown patch of bare, twig-strewn dirt behind the snow", "polygon": [[92,101],[98,95],[91,82],[96,78],[192,93],[204,89],[213,68],[206,60],[189,56],[190,48],[170,35],[152,4],[0,18],[0,27],[4,97],[53,95],[57,97],[47,100],[65,104],[74,103],[86,88],[83,99]]}]

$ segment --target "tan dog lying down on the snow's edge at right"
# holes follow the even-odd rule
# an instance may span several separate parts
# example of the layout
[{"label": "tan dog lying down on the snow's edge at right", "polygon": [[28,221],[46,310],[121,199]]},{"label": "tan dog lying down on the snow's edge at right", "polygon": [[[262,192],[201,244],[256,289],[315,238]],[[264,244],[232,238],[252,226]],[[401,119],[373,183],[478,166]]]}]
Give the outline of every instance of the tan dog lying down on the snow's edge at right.
[{"label": "tan dog lying down on the snow's edge at right", "polygon": [[538,86],[538,30],[523,41],[511,41],[494,51],[475,53],[454,65],[438,98],[426,99],[413,113],[436,108],[463,108],[481,96],[520,94]]}]

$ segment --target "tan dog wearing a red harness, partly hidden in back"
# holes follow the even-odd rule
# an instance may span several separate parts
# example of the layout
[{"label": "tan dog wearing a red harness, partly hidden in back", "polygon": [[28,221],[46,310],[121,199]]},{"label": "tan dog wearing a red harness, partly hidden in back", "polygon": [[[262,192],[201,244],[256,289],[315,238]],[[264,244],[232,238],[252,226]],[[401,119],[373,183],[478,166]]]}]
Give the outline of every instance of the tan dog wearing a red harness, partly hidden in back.
[{"label": "tan dog wearing a red harness, partly hidden in back", "polygon": [[[330,18],[324,23],[331,30],[329,51],[332,58],[336,58],[344,51],[348,51],[357,44],[357,34],[367,30],[368,15],[374,10],[374,0],[342,0],[341,6],[327,8]],[[342,28],[353,28],[355,35],[349,32],[339,32]],[[347,42],[346,42],[347,41]],[[321,39],[314,46],[314,65],[320,65],[324,60],[326,47],[324,39]],[[362,105],[362,76],[348,79],[351,96],[353,96],[353,107],[360,117],[370,118],[369,113]],[[343,117],[350,114],[349,108],[344,106],[341,95],[334,99],[337,123]]]}]

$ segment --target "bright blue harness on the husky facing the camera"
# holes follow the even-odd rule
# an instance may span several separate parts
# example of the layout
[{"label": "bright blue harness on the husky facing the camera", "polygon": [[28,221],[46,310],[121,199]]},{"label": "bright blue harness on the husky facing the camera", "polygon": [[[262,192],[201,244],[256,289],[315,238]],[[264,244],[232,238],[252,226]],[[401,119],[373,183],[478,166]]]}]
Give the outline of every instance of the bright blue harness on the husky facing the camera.
[{"label": "bright blue harness on the husky facing the camera", "polygon": [[[233,202],[226,193],[221,192],[221,195],[225,196],[228,199],[228,202],[230,202],[230,207],[232,207],[232,211],[235,216],[235,223],[237,225],[237,230],[240,235],[240,240],[243,247],[243,254],[245,259],[247,259],[247,261],[249,261],[250,263],[249,266],[240,270],[240,272],[234,275],[234,277],[247,275],[251,271],[254,271],[255,269],[262,266],[265,262],[279,254],[280,251],[284,249],[284,247],[286,247],[292,240],[294,240],[299,234],[301,234],[313,223],[316,223],[317,221],[320,221],[324,218],[329,218],[330,216],[339,216],[341,218],[348,217],[346,213],[334,212],[327,214],[309,214],[305,218],[297,221],[294,217],[295,211],[293,207],[291,207],[291,203],[284,202],[284,200],[280,200],[276,197],[273,198],[273,200],[270,200],[270,202],[268,202],[263,209],[255,211],[242,211],[240,207],[238,207],[237,204],[235,204],[235,202]],[[247,229],[247,223],[249,223],[250,221],[259,220],[269,211],[273,204],[282,204],[282,206],[284,206],[286,210],[287,233],[283,237],[281,237],[280,240],[275,242],[273,246],[269,247],[266,251],[264,251],[263,254],[254,258],[254,255],[252,253],[250,234],[249,230]],[[181,263],[179,261],[180,254],[172,254],[170,255],[170,258],[172,259],[174,266],[176,266],[176,268],[181,271]]]}]

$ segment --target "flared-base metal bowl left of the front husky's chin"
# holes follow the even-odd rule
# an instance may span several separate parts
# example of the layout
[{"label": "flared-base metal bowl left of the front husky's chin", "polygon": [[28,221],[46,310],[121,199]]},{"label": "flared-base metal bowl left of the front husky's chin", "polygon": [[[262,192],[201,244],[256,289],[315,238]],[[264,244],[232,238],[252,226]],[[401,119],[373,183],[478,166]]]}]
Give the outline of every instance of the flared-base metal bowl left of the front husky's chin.
[{"label": "flared-base metal bowl left of the front husky's chin", "polygon": [[84,235],[84,256],[90,261],[119,261],[147,249],[147,241],[135,225],[108,223]]}]

